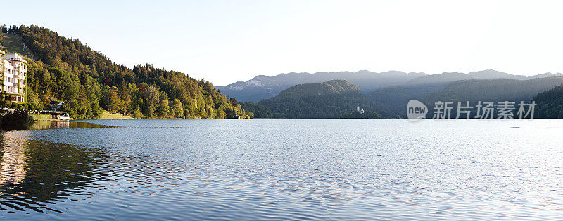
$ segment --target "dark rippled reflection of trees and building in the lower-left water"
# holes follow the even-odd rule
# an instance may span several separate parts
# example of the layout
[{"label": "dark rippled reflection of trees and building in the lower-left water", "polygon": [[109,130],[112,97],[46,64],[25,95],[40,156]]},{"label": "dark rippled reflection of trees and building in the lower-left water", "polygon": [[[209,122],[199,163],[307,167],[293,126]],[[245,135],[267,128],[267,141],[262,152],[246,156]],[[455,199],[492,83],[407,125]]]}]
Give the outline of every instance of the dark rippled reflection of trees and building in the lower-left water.
[{"label": "dark rippled reflection of trees and building in the lower-left water", "polygon": [[103,178],[97,149],[10,135],[0,135],[0,149],[0,210],[52,210],[49,201],[88,194]]}]

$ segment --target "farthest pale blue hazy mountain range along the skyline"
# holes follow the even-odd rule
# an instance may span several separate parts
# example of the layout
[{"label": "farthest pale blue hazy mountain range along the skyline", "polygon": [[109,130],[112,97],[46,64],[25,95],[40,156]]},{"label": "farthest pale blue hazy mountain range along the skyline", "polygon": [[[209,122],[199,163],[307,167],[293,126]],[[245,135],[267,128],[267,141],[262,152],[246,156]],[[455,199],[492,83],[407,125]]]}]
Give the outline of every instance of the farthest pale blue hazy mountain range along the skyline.
[{"label": "farthest pale blue hazy mountain range along the skyline", "polygon": [[[258,75],[248,81],[239,81],[227,86],[217,86],[224,95],[236,98],[244,102],[258,102],[263,99],[273,98],[286,88],[303,83],[321,83],[325,81],[343,79],[358,86],[360,91],[365,94],[372,93],[381,88],[391,86],[413,86],[413,85],[432,85],[445,84],[453,81],[469,79],[514,79],[528,80],[550,76],[563,76],[561,73],[537,74],[533,76],[522,76],[498,72],[495,70],[484,70],[479,72],[459,73],[445,72],[442,74],[425,73],[405,73],[398,71],[389,72],[317,72],[310,73],[289,73],[278,74],[276,76]],[[433,87],[436,88],[436,87]]]}]

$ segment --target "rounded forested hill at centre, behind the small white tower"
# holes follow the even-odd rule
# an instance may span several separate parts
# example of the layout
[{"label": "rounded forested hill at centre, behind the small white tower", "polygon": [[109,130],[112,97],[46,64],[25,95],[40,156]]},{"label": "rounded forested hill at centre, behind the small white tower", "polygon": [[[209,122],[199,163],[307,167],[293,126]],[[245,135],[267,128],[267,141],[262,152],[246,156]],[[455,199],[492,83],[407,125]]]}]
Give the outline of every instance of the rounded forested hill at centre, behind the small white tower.
[{"label": "rounded forested hill at centre, behind the small white tower", "polygon": [[277,118],[341,118],[358,106],[373,109],[358,87],[345,80],[292,86],[258,105],[270,109]]}]

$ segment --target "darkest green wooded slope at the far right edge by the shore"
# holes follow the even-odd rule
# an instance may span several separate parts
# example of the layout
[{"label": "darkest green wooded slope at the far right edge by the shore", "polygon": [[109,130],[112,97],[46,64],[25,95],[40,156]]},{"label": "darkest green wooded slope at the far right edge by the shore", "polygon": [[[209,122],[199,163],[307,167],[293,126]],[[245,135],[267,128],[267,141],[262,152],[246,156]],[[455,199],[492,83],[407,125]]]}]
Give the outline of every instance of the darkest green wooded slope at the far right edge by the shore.
[{"label": "darkest green wooded slope at the far right edge by the shore", "polygon": [[535,118],[563,119],[563,85],[539,93],[533,101],[538,105]]}]

